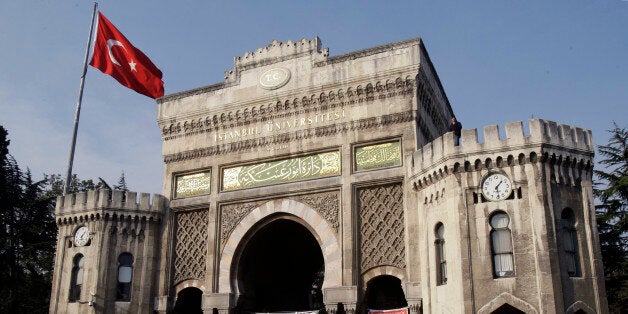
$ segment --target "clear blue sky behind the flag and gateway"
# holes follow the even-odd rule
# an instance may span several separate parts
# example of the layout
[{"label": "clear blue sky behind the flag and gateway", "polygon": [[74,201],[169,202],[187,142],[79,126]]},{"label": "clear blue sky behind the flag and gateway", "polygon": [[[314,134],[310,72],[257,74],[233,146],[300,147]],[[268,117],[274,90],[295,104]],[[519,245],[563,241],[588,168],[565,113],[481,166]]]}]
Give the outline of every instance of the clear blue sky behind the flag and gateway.
[{"label": "clear blue sky behind the flag and gateway", "polygon": [[[35,178],[66,171],[93,2],[0,2],[0,125]],[[103,1],[166,94],[223,80],[233,57],[319,36],[330,55],[422,37],[463,128],[628,122],[628,1]],[[89,68],[74,172],[161,193],[154,100]],[[481,133],[481,132],[480,132]]]}]

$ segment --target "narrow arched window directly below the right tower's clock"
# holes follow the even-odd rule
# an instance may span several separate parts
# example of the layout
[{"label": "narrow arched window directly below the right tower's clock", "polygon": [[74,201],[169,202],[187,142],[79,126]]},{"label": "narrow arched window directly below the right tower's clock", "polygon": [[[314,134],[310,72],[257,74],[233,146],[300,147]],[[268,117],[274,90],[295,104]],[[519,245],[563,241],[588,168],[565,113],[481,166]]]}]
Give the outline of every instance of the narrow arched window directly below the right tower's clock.
[{"label": "narrow arched window directly below the right tower's clock", "polygon": [[493,251],[493,275],[509,277],[515,274],[512,254],[512,237],[510,234],[510,219],[504,212],[491,216],[491,249]]}]

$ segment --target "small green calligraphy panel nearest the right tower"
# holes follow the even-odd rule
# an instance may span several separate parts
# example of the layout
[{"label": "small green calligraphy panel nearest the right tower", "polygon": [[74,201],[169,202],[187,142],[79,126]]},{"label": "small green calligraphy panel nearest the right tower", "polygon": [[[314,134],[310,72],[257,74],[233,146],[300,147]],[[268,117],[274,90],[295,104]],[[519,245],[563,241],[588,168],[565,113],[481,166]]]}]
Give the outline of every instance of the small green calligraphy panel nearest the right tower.
[{"label": "small green calligraphy panel nearest the right tower", "polygon": [[369,170],[401,166],[401,142],[356,147],[355,169]]}]

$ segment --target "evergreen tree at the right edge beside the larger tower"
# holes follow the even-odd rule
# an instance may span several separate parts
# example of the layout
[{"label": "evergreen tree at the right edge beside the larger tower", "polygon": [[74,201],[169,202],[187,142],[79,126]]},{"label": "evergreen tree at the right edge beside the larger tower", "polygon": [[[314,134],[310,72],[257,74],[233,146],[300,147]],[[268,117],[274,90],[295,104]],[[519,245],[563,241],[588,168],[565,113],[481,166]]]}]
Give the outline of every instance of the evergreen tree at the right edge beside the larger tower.
[{"label": "evergreen tree at the right edge beside the larger tower", "polygon": [[605,168],[595,170],[594,193],[609,310],[628,313],[628,130],[614,124],[607,145],[598,146]]}]

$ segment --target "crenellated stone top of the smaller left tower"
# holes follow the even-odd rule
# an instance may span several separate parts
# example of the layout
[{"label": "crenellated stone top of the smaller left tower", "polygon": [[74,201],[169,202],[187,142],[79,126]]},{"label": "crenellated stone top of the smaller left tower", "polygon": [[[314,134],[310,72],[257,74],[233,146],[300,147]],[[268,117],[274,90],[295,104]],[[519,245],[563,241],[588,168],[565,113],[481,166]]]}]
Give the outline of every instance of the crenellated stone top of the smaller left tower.
[{"label": "crenellated stone top of the smaller left tower", "polygon": [[57,216],[75,214],[88,210],[120,209],[132,212],[161,213],[166,207],[166,198],[159,194],[118,191],[118,190],[91,190],[76,194],[67,194],[57,197],[55,214]]}]

